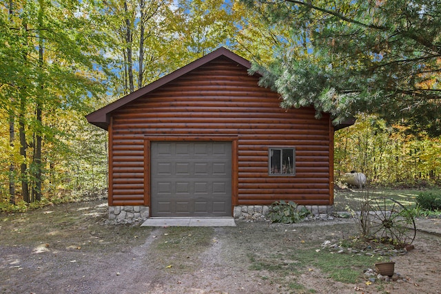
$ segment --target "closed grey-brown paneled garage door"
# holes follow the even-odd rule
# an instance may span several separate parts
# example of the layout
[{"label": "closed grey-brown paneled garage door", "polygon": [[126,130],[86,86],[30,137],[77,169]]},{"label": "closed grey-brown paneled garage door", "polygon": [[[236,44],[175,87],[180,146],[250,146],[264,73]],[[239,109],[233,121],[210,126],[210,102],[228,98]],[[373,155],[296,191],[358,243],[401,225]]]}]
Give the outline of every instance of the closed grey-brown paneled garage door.
[{"label": "closed grey-brown paneled garage door", "polygon": [[152,216],[232,216],[231,142],[152,142]]}]

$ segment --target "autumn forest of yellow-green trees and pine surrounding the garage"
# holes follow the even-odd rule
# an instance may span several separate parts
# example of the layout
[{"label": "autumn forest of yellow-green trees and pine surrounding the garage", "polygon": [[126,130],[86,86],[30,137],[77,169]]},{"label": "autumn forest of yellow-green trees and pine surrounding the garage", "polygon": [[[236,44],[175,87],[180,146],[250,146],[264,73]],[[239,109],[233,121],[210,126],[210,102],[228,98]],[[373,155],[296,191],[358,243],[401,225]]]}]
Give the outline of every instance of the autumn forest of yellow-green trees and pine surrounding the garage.
[{"label": "autumn forest of yellow-green trees and pine surrounding the garage", "polygon": [[85,115],[220,46],[281,107],[357,118],[336,180],[439,185],[441,8],[392,2],[1,0],[0,207],[106,189],[107,134]]}]

